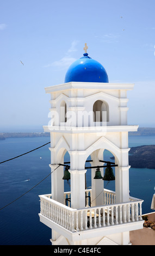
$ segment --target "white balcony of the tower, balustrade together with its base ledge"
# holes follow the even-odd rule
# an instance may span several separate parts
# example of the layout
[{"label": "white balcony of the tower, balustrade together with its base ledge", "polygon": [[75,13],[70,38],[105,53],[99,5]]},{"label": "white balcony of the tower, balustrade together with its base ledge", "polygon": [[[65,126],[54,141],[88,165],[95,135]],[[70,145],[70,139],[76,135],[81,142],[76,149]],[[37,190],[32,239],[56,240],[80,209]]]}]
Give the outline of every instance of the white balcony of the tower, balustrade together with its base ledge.
[{"label": "white balcony of the tower, balustrade together with its base ledge", "polygon": [[[85,191],[86,196],[91,197],[91,190]],[[52,194],[41,195],[40,197],[40,221],[54,230],[61,230],[64,234],[73,239],[82,231],[88,238],[93,230],[104,235],[119,233],[122,231],[131,231],[142,228],[142,210],[143,200],[130,197],[129,202],[115,203],[115,192],[104,190],[104,205],[90,207],[88,197],[86,197],[86,207],[84,209],[72,209],[66,206],[66,197],[70,198],[70,192],[64,193],[64,204],[52,199]],[[117,227],[117,228],[116,228]],[[89,230],[89,233],[86,232]],[[90,232],[91,230],[91,232]],[[95,233],[94,233],[95,235]]]}]

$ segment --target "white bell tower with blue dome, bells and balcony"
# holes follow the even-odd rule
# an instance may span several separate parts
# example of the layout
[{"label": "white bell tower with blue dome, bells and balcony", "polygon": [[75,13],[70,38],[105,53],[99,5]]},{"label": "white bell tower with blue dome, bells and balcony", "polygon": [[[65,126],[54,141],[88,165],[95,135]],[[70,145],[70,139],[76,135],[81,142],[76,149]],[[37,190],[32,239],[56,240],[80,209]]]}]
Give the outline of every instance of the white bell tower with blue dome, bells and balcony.
[{"label": "white bell tower with blue dome, bells and balcony", "polygon": [[[129,245],[129,231],[142,228],[142,200],[129,196],[128,132],[138,129],[127,124],[127,91],[133,87],[109,83],[103,66],[84,53],[64,84],[45,88],[51,95],[51,121],[44,131],[51,134],[52,186],[51,194],[40,196],[39,216],[52,229],[52,245]],[[105,149],[115,158],[115,191],[104,188]],[[64,163],[66,151],[69,163]],[[64,167],[70,174],[68,192]],[[100,179],[94,179],[96,170]],[[91,172],[90,189],[86,172]]]}]

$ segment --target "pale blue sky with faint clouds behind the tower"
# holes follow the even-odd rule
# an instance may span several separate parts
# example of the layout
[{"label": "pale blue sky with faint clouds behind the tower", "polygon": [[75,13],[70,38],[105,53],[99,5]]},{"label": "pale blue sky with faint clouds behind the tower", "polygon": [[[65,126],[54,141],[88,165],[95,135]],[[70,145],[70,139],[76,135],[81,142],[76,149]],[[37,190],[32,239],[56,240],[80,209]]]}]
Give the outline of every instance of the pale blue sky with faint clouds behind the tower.
[{"label": "pale blue sky with faint clouds behind the tower", "polygon": [[0,0],[0,132],[44,131],[45,87],[88,54],[109,82],[134,83],[128,124],[155,127],[154,0]]}]

